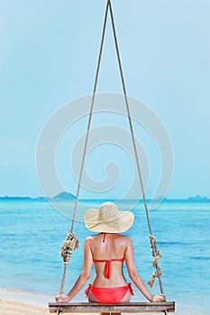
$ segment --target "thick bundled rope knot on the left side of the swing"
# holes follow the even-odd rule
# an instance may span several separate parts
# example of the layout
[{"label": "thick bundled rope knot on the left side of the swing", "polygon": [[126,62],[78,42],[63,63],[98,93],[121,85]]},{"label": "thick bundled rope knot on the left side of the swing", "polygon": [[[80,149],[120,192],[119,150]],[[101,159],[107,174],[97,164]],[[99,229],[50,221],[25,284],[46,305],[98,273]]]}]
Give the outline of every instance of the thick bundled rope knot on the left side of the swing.
[{"label": "thick bundled rope knot on the left side of the swing", "polygon": [[68,232],[67,238],[63,242],[61,247],[61,257],[63,259],[64,266],[68,266],[68,261],[72,255],[72,250],[78,248],[78,238],[74,232]]}]

